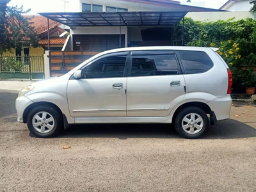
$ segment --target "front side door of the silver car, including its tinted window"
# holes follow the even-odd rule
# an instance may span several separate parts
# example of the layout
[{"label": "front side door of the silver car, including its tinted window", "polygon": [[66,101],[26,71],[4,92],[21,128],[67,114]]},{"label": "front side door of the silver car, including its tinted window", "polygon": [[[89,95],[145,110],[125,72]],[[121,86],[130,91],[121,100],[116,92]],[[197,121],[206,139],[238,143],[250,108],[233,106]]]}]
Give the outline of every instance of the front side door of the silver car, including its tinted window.
[{"label": "front side door of the silver car, including its tinted window", "polygon": [[81,79],[70,78],[67,96],[71,116],[127,116],[127,55],[101,56],[81,69]]}]

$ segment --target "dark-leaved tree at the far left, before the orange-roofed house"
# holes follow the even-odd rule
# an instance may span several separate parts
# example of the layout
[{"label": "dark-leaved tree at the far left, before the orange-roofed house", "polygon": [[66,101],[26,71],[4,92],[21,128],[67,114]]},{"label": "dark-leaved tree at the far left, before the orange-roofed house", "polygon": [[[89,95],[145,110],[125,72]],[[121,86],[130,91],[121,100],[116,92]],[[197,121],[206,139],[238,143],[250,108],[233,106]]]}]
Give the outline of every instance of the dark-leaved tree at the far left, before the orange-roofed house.
[{"label": "dark-leaved tree at the far left, before the orange-roofed house", "polygon": [[21,49],[22,41],[28,41],[33,47],[37,47],[39,41],[36,31],[29,26],[32,17],[22,16],[30,10],[8,6],[10,1],[0,0],[0,55],[10,48]]}]

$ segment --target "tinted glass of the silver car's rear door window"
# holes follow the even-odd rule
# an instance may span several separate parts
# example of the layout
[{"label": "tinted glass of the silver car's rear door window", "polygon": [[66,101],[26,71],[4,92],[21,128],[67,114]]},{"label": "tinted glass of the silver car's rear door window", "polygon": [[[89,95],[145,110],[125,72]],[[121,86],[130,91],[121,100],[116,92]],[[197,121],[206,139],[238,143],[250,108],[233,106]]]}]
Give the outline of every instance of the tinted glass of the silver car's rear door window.
[{"label": "tinted glass of the silver car's rear door window", "polygon": [[131,76],[171,76],[178,74],[174,54],[132,56]]}]

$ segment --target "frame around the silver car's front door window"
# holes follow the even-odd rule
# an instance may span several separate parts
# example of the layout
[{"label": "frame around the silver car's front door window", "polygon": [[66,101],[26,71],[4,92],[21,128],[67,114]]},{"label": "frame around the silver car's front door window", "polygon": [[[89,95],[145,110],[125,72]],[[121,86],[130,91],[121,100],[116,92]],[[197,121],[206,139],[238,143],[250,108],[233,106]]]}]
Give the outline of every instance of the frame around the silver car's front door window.
[{"label": "frame around the silver car's front door window", "polygon": [[[127,77],[128,74],[128,63],[129,63],[129,51],[122,51],[122,52],[113,52],[113,53],[109,53],[109,54],[104,54],[102,56],[99,56],[98,58],[95,58],[94,60],[90,61],[89,63],[86,63],[83,67],[79,68],[79,70],[83,70],[86,67],[89,67],[90,65],[92,65],[94,62],[104,59],[104,58],[108,58],[111,56],[126,56],[125,59],[125,67],[124,67],[124,74],[122,77]],[[122,77],[99,77],[99,78],[88,78],[88,79],[113,79],[113,78],[122,78]],[[74,78],[74,74],[70,77],[71,79],[75,79]],[[81,78],[81,79],[86,79],[86,78]]]}]

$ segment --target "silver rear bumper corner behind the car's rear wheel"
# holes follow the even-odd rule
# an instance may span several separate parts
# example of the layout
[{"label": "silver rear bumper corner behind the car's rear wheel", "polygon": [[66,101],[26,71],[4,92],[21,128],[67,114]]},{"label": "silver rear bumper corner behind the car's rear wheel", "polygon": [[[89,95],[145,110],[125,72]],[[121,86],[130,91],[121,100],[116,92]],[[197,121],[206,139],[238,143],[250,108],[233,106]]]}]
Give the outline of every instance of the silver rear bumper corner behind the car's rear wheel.
[{"label": "silver rear bumper corner behind the car's rear wheel", "polygon": [[214,111],[216,120],[225,120],[230,118],[230,110],[232,106],[232,99],[230,95],[225,97],[218,97],[210,102],[207,102],[208,106]]}]

